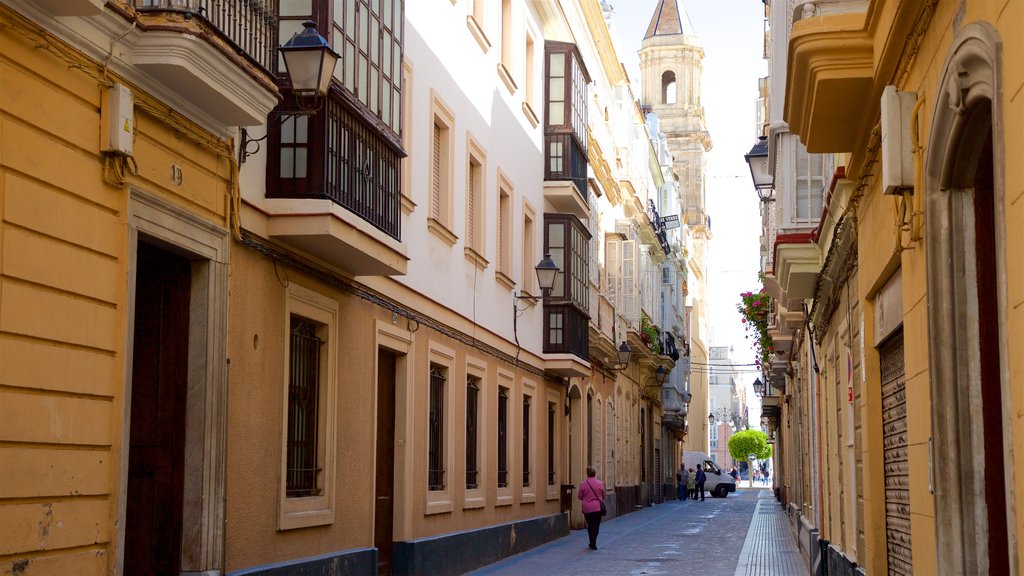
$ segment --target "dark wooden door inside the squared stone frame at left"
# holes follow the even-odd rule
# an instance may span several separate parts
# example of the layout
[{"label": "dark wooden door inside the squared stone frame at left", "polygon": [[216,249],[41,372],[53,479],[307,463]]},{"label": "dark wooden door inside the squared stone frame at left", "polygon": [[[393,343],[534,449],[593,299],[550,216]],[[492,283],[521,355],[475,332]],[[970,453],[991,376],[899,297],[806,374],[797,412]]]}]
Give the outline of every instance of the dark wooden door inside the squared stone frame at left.
[{"label": "dark wooden door inside the squared stone frame at left", "polygon": [[139,243],[124,574],[180,569],[190,276],[188,260]]}]

